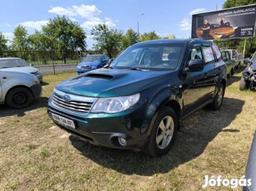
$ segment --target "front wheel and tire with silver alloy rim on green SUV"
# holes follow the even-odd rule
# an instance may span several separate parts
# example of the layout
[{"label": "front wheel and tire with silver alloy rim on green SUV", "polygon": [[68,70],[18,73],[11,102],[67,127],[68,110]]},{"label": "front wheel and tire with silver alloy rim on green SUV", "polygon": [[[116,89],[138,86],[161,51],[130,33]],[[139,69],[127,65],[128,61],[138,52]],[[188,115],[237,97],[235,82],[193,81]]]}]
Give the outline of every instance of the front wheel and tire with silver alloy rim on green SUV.
[{"label": "front wheel and tire with silver alloy rim on green SUV", "polygon": [[163,107],[153,123],[153,129],[145,147],[147,154],[160,157],[167,154],[173,145],[178,129],[178,118],[172,108]]}]

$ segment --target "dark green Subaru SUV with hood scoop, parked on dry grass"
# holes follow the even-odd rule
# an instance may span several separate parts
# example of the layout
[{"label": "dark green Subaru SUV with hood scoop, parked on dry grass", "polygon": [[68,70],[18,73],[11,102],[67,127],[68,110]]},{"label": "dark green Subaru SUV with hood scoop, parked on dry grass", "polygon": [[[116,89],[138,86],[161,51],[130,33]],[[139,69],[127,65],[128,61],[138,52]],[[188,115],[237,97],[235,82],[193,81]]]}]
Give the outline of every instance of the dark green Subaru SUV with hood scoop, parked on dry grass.
[{"label": "dark green Subaru SUV with hood scoop, parked on dry grass", "polygon": [[63,81],[48,114],[92,144],[168,153],[180,121],[206,105],[218,110],[226,66],[203,40],[158,40],[128,47],[108,68]]}]

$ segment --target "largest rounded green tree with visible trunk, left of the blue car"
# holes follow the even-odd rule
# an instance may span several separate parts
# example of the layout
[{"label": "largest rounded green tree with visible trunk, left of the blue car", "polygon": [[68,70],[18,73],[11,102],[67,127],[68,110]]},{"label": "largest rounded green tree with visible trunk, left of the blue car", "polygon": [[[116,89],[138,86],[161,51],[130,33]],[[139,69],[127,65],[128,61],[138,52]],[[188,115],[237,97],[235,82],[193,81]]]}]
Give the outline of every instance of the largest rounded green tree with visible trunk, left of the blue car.
[{"label": "largest rounded green tree with visible trunk, left of the blue car", "polygon": [[78,22],[72,22],[68,17],[54,17],[50,19],[46,26],[43,26],[46,45],[48,49],[63,52],[64,63],[68,56],[68,51],[75,51],[77,48],[85,50],[86,33],[79,26]]}]

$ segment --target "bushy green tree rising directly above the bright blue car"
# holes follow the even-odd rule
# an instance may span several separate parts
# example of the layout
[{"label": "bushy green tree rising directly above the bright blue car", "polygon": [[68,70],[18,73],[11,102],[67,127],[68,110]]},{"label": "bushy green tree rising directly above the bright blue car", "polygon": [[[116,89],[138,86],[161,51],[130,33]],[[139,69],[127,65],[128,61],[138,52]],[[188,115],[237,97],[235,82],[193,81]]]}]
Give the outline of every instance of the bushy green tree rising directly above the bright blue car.
[{"label": "bushy green tree rising directly above the bright blue car", "polygon": [[123,48],[123,32],[110,29],[106,24],[99,24],[91,30],[93,40],[97,42],[94,48],[97,51],[107,51],[109,57],[118,55]]}]

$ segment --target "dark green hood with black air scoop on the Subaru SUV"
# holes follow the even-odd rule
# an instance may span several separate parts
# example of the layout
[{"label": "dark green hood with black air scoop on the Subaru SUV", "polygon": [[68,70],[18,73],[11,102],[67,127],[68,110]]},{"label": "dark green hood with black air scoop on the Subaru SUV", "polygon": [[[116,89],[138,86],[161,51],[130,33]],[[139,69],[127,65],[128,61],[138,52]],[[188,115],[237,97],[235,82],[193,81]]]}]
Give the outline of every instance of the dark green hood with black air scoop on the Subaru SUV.
[{"label": "dark green hood with black air scoop on the Subaru SUV", "polygon": [[56,89],[80,96],[128,96],[143,91],[149,86],[157,86],[161,80],[169,79],[170,72],[102,68],[63,81]]}]

